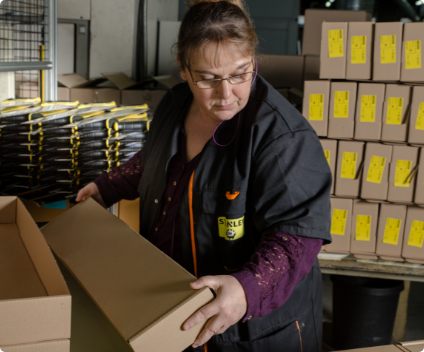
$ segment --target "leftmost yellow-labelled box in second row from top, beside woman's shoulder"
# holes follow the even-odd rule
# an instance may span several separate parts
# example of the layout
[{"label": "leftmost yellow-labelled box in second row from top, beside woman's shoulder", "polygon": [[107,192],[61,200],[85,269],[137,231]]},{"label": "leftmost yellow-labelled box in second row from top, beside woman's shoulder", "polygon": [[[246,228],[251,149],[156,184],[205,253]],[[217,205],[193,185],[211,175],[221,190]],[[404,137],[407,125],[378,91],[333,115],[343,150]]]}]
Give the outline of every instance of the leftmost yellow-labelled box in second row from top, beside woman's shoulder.
[{"label": "leftmost yellow-labelled box in second row from top, beside woman's shoulder", "polygon": [[303,95],[303,116],[311,124],[318,136],[328,134],[328,105],[330,101],[330,81],[306,81]]}]

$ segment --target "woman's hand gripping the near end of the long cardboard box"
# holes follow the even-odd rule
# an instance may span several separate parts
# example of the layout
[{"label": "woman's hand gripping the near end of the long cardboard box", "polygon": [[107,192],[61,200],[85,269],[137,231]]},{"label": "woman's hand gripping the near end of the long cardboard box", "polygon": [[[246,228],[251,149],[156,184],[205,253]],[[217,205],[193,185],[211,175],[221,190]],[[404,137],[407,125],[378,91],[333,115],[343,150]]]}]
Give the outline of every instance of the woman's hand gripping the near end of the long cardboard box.
[{"label": "woman's hand gripping the near end of the long cardboard box", "polygon": [[247,311],[247,299],[243,286],[233,276],[204,276],[190,284],[198,290],[209,287],[216,293],[216,298],[194,313],[185,323],[184,330],[200,324],[209,318],[203,331],[194,341],[196,348],[209,341],[213,335],[222,334],[231,325],[237,323]]}]

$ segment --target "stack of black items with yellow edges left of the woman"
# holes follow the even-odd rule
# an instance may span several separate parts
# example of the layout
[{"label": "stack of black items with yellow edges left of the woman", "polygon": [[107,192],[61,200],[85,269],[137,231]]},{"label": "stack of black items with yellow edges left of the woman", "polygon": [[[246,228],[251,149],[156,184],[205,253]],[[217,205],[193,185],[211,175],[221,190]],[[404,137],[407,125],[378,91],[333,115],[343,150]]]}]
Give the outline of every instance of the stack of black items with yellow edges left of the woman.
[{"label": "stack of black items with yellow edges left of the woman", "polygon": [[37,205],[78,189],[143,148],[148,106],[10,99],[0,104],[0,195]]}]

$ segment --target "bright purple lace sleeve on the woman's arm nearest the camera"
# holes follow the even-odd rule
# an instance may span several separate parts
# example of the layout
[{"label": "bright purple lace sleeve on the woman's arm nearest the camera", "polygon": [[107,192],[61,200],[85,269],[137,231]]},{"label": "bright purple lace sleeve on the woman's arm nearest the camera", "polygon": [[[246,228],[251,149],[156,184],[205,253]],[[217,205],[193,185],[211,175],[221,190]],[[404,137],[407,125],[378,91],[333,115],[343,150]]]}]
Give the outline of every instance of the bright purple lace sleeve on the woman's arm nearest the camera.
[{"label": "bright purple lace sleeve on the woman's arm nearest the camera", "polygon": [[263,317],[284,305],[295,286],[312,269],[322,242],[288,232],[264,237],[251,261],[232,274],[242,284],[247,297],[243,321]]}]

